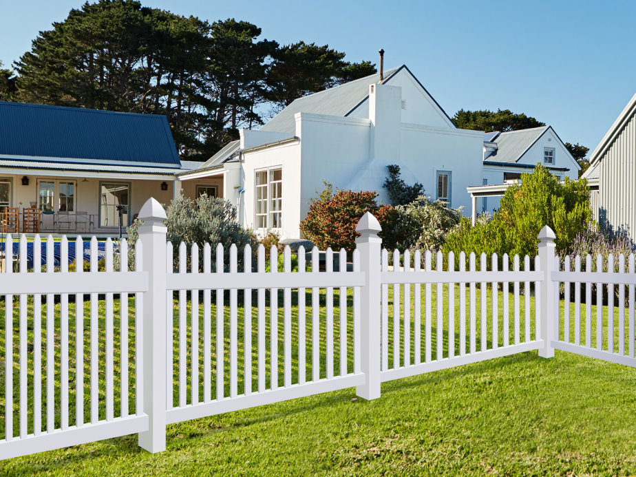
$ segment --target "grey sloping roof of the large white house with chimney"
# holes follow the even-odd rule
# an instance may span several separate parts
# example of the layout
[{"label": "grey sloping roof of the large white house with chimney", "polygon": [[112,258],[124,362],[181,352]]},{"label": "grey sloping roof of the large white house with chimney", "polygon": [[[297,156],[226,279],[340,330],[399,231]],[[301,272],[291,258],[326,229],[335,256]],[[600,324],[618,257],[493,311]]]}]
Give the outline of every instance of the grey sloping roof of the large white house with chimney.
[{"label": "grey sloping roof of the large white house with chimney", "polygon": [[[401,67],[393,68],[385,72],[384,81],[388,81],[400,69]],[[295,134],[296,120],[294,115],[299,112],[346,116],[369,96],[369,85],[377,83],[377,80],[378,75],[371,74],[343,85],[297,98],[279,114],[271,118],[260,130]]]}]

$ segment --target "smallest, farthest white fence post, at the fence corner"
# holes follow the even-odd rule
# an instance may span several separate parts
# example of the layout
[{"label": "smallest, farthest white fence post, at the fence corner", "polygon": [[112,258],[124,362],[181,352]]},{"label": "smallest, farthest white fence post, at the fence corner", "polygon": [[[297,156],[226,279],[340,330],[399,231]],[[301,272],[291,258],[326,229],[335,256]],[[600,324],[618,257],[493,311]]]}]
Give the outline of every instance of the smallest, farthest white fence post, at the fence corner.
[{"label": "smallest, farthest white fence post, at the fence corner", "polygon": [[539,348],[539,356],[542,358],[554,357],[554,348],[552,348],[552,340],[554,339],[555,315],[554,300],[558,297],[554,294],[554,286],[552,282],[552,272],[554,271],[555,244],[556,235],[549,226],[544,226],[539,233],[539,260],[541,270],[543,271],[543,279],[541,281],[541,321],[540,331],[543,346]]}]

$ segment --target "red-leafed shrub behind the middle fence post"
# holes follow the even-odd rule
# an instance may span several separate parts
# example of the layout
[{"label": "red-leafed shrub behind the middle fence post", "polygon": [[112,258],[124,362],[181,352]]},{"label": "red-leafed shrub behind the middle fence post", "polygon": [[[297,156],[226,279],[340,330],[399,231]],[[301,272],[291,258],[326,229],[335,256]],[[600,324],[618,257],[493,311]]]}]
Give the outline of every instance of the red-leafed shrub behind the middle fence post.
[{"label": "red-leafed shrub behind the middle fence post", "polygon": [[366,211],[370,211],[380,222],[385,248],[396,243],[393,236],[397,212],[393,206],[378,205],[378,194],[373,191],[333,190],[332,184],[325,183],[325,189],[309,205],[307,218],[300,222],[304,236],[318,248],[332,250],[344,248],[352,251],[359,235],[355,229]]}]

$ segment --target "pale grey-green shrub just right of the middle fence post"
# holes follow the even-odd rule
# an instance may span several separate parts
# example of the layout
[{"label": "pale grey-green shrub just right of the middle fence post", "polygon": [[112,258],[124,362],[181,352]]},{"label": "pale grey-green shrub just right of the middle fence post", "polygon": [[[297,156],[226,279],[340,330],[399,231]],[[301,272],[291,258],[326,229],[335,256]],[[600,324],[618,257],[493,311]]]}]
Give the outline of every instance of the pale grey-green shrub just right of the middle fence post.
[{"label": "pale grey-green shrub just right of the middle fence post", "polygon": [[399,250],[439,250],[462,218],[461,208],[452,209],[440,200],[432,202],[423,195],[410,204],[397,206],[396,213],[394,234]]}]

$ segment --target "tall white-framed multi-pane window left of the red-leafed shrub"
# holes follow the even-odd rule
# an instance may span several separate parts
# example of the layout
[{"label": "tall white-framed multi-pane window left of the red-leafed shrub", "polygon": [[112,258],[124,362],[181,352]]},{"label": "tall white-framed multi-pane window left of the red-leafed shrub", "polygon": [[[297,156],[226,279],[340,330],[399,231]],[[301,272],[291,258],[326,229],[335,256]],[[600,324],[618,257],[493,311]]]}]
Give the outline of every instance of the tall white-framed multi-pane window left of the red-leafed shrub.
[{"label": "tall white-framed multi-pane window left of the red-leafed shrub", "polygon": [[281,229],[283,222],[283,170],[255,171],[255,228]]}]

